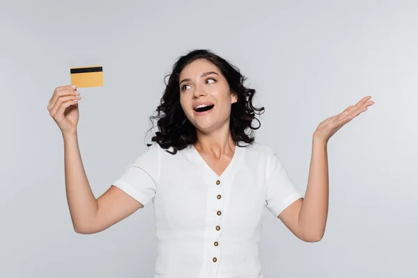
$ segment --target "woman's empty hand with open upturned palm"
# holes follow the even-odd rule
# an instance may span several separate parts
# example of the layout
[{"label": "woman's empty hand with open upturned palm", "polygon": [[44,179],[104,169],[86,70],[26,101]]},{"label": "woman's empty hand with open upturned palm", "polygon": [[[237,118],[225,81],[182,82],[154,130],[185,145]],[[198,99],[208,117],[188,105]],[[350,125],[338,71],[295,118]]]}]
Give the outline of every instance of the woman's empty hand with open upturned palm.
[{"label": "woman's empty hand with open upturned palm", "polygon": [[354,106],[348,106],[346,110],[338,115],[327,118],[327,120],[321,122],[314,132],[314,140],[320,140],[325,143],[330,140],[331,136],[336,133],[344,124],[350,122],[360,113],[367,110],[368,106],[374,104],[374,101],[369,101],[370,96],[364,97]]}]

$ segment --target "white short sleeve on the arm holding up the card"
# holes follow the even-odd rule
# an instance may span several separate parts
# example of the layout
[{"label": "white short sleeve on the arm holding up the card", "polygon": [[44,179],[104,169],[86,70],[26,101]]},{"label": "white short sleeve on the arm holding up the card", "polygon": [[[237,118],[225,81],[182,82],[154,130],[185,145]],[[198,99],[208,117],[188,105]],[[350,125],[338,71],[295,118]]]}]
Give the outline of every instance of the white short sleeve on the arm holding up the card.
[{"label": "white short sleeve on the arm holding up the card", "polygon": [[157,193],[157,180],[160,173],[160,149],[156,143],[148,147],[114,181],[113,185],[136,199],[144,206]]}]

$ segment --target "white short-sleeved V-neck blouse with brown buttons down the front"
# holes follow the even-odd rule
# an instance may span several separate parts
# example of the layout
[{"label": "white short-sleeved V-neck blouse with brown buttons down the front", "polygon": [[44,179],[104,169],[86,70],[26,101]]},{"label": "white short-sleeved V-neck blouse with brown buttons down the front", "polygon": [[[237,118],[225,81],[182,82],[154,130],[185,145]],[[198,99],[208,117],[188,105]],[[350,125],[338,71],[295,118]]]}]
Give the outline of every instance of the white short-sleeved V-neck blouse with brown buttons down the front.
[{"label": "white short-sleeved V-neck blouse with brown buttons down the front", "polygon": [[192,145],[173,155],[153,143],[114,186],[144,206],[153,199],[154,278],[263,278],[263,210],[277,217],[302,198],[274,150],[259,144],[235,147],[219,177]]}]

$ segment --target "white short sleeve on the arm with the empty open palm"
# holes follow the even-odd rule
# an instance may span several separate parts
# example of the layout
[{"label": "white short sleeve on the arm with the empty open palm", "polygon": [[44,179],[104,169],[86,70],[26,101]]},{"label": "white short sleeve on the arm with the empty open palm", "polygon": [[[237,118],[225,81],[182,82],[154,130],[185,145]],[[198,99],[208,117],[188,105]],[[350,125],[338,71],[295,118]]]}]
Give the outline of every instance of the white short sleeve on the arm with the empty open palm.
[{"label": "white short sleeve on the arm with the empty open palm", "polygon": [[284,165],[275,152],[272,152],[268,158],[266,181],[265,201],[274,217],[278,217],[285,208],[303,197],[288,177]]}]

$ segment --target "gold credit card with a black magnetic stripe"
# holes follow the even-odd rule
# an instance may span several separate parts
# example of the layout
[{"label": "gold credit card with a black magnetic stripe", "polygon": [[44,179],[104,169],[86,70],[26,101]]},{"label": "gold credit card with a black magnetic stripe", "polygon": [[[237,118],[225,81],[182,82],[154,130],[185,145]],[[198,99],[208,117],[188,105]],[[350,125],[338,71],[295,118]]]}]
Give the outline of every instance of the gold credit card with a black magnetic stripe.
[{"label": "gold credit card with a black magnetic stripe", "polygon": [[92,65],[89,67],[71,67],[71,84],[77,88],[99,87],[103,85],[103,67]]}]

